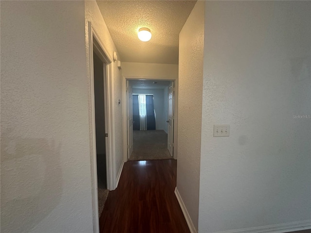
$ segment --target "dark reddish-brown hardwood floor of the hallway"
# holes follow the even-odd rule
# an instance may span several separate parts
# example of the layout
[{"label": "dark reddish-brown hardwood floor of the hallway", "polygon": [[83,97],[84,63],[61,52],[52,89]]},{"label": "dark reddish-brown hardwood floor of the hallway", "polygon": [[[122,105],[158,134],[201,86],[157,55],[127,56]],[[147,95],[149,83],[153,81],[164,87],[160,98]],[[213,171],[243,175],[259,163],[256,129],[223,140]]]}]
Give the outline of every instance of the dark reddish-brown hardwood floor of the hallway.
[{"label": "dark reddish-brown hardwood floor of the hallway", "polygon": [[190,233],[174,194],[176,160],[129,161],[109,192],[101,233]]}]

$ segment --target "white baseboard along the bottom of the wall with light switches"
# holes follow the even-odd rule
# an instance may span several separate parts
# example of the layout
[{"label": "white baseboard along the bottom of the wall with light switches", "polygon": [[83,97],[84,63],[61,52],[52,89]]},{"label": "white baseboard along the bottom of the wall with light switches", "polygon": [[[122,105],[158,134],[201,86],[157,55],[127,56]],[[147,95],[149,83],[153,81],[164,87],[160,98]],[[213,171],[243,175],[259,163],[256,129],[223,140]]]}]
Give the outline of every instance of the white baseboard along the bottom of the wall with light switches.
[{"label": "white baseboard along the bottom of the wall with light switches", "polygon": [[288,222],[260,227],[243,228],[214,233],[286,233],[311,229],[311,220]]}]

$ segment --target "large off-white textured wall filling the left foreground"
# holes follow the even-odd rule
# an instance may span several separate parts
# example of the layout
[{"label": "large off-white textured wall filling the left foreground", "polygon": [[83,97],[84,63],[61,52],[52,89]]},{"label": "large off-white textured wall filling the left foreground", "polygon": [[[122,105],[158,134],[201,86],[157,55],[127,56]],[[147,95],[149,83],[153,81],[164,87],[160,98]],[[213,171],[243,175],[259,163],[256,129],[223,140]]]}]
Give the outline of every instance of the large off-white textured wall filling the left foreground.
[{"label": "large off-white textured wall filling the left foreground", "polygon": [[83,1],[1,1],[1,232],[90,233]]}]

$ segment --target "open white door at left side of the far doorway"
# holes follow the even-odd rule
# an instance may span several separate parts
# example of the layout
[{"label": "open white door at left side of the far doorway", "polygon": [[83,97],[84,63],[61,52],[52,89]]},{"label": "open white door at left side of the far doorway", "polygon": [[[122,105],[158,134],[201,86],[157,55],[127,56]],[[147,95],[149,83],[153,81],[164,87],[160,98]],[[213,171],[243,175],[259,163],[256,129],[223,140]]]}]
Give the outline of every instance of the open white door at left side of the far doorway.
[{"label": "open white door at left side of the far doorway", "polygon": [[127,158],[133,152],[133,93],[129,81],[126,81],[127,94]]}]

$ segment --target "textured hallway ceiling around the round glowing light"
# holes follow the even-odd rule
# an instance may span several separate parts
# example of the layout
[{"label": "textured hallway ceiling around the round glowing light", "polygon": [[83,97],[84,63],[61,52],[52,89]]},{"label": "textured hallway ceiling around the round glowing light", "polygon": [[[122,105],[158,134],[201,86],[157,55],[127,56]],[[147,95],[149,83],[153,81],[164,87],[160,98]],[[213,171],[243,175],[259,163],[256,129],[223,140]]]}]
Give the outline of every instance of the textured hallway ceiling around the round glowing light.
[{"label": "textured hallway ceiling around the round glowing light", "polygon": [[[97,0],[123,62],[178,64],[178,36],[195,0]],[[152,37],[138,39],[139,28]]]}]

